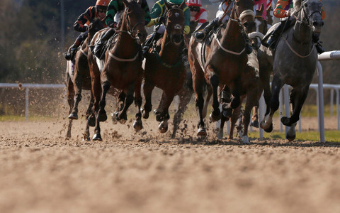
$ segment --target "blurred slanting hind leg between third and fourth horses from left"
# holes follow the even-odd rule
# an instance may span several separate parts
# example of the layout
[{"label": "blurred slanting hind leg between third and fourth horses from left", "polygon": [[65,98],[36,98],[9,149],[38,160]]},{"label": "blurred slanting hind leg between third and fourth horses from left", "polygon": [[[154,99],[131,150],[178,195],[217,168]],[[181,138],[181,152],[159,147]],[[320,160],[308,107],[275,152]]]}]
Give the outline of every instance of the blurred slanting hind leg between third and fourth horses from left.
[{"label": "blurred slanting hind leg between third and fourth horses from left", "polygon": [[175,138],[176,131],[179,129],[179,124],[181,123],[182,115],[184,114],[184,111],[188,109],[188,103],[190,102],[191,96],[193,92],[191,89],[188,89],[186,87],[183,87],[181,89],[181,92],[179,93],[179,109],[174,114],[174,131],[172,131],[171,138]]}]

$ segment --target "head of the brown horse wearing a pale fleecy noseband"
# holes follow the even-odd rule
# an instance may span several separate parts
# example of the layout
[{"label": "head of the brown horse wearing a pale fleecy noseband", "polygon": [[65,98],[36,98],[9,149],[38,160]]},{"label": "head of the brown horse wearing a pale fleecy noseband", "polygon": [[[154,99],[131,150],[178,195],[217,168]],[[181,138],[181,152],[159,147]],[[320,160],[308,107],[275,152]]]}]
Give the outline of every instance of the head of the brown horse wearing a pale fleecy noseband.
[{"label": "head of the brown horse wearing a pale fleecy noseband", "polygon": [[[243,23],[247,33],[255,31],[253,0],[234,0],[234,11],[236,11],[235,15]],[[234,16],[234,18],[237,17]]]}]

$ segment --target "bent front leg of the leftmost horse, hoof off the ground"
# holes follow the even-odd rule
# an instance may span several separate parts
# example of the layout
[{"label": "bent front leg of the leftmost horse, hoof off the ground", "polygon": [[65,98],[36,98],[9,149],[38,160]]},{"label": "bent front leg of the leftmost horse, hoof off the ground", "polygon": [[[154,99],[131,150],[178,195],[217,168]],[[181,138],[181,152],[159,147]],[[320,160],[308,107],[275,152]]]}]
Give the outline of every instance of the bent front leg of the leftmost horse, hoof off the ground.
[{"label": "bent front leg of the leftmost horse, hoof off the ground", "polygon": [[81,101],[81,87],[83,86],[83,76],[79,73],[78,63],[74,65],[74,107],[72,113],[69,114],[69,119],[75,120],[78,119],[78,104]]}]

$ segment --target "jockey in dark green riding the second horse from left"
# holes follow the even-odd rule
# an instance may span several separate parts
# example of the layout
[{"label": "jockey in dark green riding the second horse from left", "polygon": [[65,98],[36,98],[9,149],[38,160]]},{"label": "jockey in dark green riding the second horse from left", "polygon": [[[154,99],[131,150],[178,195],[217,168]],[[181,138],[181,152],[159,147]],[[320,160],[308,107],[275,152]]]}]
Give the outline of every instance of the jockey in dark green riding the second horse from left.
[{"label": "jockey in dark green riding the second horse from left", "polygon": [[[142,0],[141,7],[145,11],[145,25],[147,25],[151,19],[147,0]],[[115,28],[118,28],[118,22],[124,9],[125,6],[122,0],[111,0],[108,4],[108,11],[106,12],[106,24],[108,25],[108,27],[110,27],[110,29],[106,31],[101,40],[99,40],[98,43],[96,43],[96,45],[94,46],[93,53],[97,56],[97,58],[101,58],[101,49],[103,48],[106,40],[108,40],[109,38],[111,38],[112,35],[115,34]]]}]

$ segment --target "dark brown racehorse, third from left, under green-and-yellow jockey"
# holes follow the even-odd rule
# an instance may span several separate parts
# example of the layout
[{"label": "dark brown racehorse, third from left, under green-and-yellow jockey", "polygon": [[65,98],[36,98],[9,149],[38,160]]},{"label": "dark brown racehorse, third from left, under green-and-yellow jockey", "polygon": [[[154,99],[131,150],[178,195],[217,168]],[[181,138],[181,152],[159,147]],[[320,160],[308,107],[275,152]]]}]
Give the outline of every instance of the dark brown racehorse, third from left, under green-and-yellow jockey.
[{"label": "dark brown racehorse, third from left, under green-and-yellow jockey", "polygon": [[166,23],[163,37],[157,45],[145,55],[145,104],[143,117],[147,119],[152,110],[152,90],[159,87],[163,90],[159,107],[154,111],[159,124],[159,132],[168,130],[169,107],[174,96],[182,89],[186,79],[186,67],[183,65],[182,50],[185,1],[180,6],[166,6]]}]

